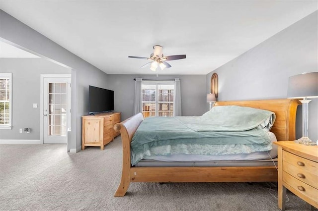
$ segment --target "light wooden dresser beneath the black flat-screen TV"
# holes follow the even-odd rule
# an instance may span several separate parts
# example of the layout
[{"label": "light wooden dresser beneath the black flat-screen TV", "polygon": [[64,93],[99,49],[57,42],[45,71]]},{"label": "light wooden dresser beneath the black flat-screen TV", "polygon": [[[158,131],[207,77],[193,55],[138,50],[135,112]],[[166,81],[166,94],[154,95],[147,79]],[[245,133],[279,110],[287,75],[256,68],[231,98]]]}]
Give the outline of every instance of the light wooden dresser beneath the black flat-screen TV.
[{"label": "light wooden dresser beneath the black flat-screen TV", "polygon": [[96,146],[104,150],[104,146],[120,134],[113,129],[114,124],[118,122],[120,122],[120,112],[82,116],[81,149]]}]

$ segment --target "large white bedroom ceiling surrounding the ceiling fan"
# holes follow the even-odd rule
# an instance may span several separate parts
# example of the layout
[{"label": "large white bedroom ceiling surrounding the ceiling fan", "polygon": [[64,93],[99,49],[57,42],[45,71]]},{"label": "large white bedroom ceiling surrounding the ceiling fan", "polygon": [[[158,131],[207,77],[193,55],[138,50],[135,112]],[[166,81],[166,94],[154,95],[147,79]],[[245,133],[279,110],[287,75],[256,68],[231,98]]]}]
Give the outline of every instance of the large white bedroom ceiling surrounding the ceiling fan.
[{"label": "large white bedroom ceiling surrounding the ceiling fan", "polygon": [[[317,0],[1,0],[0,8],[108,74],[207,74],[318,9]],[[140,68],[154,45],[186,54]]]}]

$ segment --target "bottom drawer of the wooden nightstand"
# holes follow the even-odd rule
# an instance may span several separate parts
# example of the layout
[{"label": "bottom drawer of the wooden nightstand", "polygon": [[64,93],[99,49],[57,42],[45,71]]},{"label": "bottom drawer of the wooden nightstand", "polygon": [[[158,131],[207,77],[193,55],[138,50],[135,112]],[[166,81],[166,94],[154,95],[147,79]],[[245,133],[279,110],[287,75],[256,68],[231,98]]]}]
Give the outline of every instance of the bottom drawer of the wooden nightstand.
[{"label": "bottom drawer of the wooden nightstand", "polygon": [[287,187],[289,190],[291,190],[292,192],[294,193],[296,192],[295,194],[297,196],[303,195],[303,197],[301,197],[302,199],[310,198],[315,203],[318,203],[318,194],[317,194],[318,190],[316,188],[313,188],[312,186],[307,185],[306,183],[294,178],[293,176],[289,175],[286,172],[283,172],[283,185]]}]

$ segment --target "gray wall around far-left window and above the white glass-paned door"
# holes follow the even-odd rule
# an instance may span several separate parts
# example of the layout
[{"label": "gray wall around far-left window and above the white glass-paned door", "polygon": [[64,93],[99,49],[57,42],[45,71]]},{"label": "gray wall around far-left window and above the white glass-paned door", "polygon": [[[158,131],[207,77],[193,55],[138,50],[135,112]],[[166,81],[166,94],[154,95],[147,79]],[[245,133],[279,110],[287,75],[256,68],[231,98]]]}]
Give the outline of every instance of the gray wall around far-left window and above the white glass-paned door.
[{"label": "gray wall around far-left window and above the white glass-paned door", "polygon": [[[0,58],[0,70],[12,73],[12,130],[1,130],[0,139],[40,140],[40,75],[71,70],[43,58]],[[19,133],[25,127],[31,132]]]}]

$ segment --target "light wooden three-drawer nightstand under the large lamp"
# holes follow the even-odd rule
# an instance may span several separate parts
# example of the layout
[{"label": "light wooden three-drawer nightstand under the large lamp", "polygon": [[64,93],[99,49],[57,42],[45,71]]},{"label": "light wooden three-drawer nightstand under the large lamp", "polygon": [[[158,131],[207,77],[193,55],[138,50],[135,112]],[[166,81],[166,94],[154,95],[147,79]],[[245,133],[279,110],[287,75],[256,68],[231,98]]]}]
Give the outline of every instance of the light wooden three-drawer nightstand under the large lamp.
[{"label": "light wooden three-drawer nightstand under the large lamp", "polygon": [[285,210],[286,188],[318,208],[318,146],[305,146],[293,141],[275,144],[278,145],[279,209]]}]

